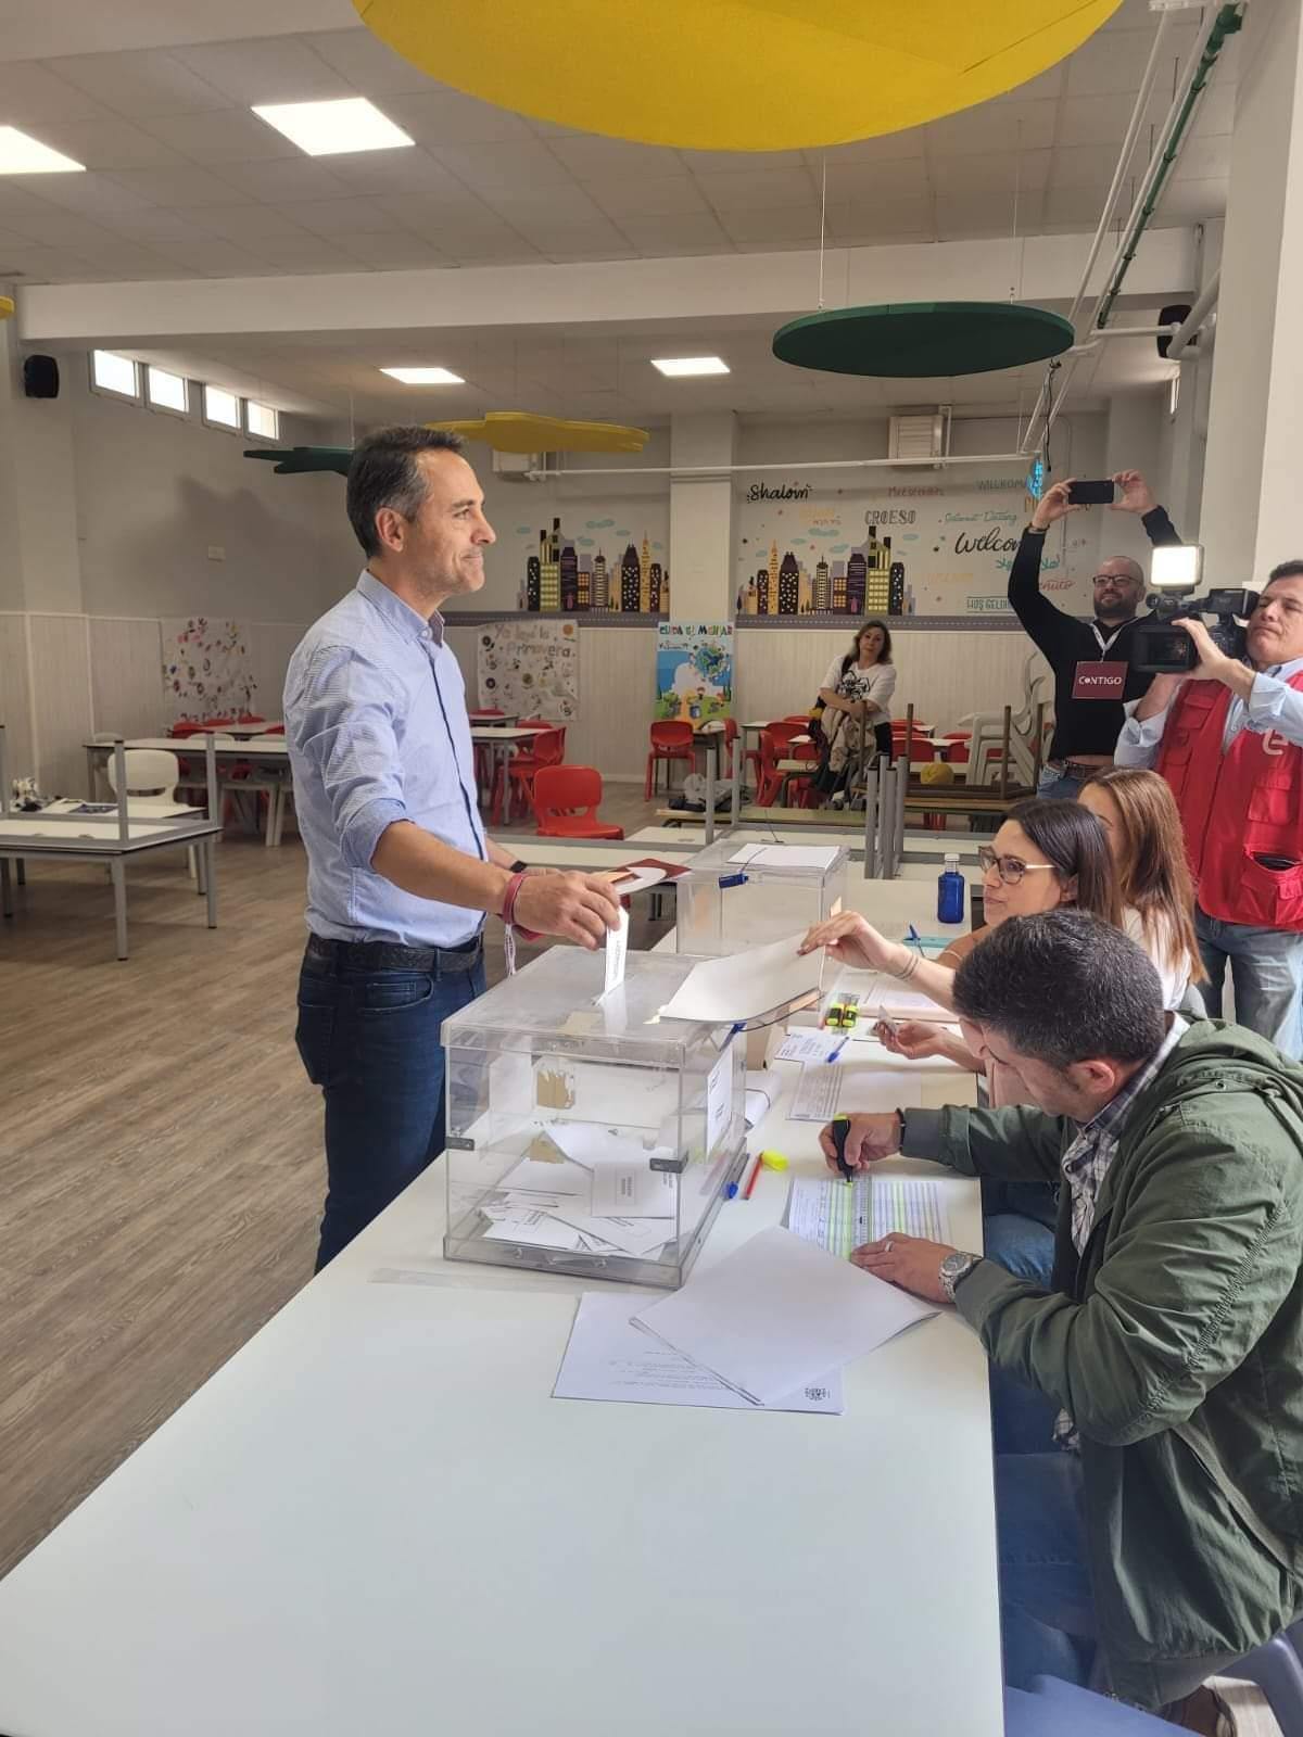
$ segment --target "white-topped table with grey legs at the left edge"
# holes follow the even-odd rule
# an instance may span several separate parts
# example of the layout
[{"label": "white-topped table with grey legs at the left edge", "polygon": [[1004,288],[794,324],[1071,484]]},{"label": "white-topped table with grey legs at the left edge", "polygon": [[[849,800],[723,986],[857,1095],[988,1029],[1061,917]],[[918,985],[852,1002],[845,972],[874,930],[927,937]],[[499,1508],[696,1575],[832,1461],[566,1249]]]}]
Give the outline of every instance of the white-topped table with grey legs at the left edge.
[{"label": "white-topped table with grey legs at the left edge", "polygon": [[116,924],[118,959],[127,957],[127,860],[148,851],[198,851],[202,872],[198,886],[208,902],[208,928],[217,928],[217,856],[214,839],[221,825],[203,815],[186,818],[129,820],[127,837],[122,837],[118,820],[111,815],[83,816],[71,813],[3,815],[0,816],[0,908],[14,915],[14,895],[9,882],[9,863],[28,863],[40,858],[63,862],[104,863],[113,881],[113,915]]}]

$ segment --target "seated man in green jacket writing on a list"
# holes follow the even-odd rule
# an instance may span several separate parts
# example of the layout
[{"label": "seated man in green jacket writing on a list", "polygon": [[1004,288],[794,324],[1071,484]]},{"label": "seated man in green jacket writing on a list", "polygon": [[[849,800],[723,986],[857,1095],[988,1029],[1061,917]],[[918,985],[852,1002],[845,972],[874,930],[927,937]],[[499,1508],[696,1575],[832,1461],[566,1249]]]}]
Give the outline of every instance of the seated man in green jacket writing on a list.
[{"label": "seated man in green jacket writing on a list", "polygon": [[1023,1103],[853,1117],[844,1155],[1060,1183],[1049,1292],[914,1237],[855,1256],[954,1301],[1044,1397],[1044,1452],[995,1461],[1006,1676],[1103,1668],[1225,1730],[1199,1685],[1303,1612],[1303,1068],[1166,1014],[1141,950],[1082,912],[1001,924],[954,1001]]}]

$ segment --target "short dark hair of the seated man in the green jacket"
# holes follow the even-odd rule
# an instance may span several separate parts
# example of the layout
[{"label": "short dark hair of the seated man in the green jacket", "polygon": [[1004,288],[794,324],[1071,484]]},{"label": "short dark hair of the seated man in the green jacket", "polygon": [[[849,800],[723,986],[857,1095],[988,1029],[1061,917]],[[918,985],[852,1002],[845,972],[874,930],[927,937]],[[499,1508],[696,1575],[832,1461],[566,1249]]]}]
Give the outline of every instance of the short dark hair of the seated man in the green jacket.
[{"label": "short dark hair of the seated man in the green jacket", "polygon": [[959,966],[954,1004],[1053,1068],[1148,1061],[1166,1035],[1148,954],[1084,910],[1008,917]]}]

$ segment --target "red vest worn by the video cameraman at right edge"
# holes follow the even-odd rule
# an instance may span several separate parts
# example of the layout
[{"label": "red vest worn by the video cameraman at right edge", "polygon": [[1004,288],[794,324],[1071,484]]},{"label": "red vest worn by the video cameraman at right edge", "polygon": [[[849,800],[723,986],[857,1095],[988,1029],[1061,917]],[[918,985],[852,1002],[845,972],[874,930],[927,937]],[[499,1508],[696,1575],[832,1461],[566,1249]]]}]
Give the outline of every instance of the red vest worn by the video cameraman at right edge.
[{"label": "red vest worn by the video cameraman at right edge", "polygon": [[[1303,690],[1303,674],[1289,686]],[[1159,752],[1199,905],[1223,922],[1303,931],[1303,749],[1273,730],[1240,730],[1223,754],[1230,698],[1220,681],[1187,683]],[[1265,868],[1260,855],[1289,856],[1296,867]]]}]

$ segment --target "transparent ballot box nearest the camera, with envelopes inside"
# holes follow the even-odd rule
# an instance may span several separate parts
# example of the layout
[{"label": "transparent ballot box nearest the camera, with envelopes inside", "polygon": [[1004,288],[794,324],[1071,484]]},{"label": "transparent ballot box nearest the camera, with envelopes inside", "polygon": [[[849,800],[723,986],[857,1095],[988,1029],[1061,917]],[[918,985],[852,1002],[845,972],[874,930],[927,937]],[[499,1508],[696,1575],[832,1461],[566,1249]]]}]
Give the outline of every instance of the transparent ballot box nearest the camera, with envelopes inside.
[{"label": "transparent ballot box nearest the camera, with envelopes inside", "polygon": [[552,947],[445,1020],[448,1259],[683,1284],[745,1159],[744,1039],[660,1018],[693,964]]}]

